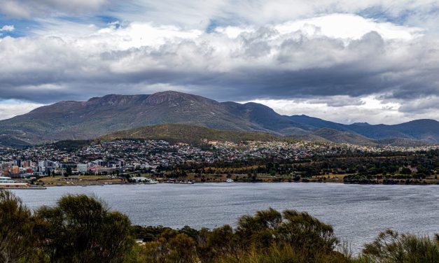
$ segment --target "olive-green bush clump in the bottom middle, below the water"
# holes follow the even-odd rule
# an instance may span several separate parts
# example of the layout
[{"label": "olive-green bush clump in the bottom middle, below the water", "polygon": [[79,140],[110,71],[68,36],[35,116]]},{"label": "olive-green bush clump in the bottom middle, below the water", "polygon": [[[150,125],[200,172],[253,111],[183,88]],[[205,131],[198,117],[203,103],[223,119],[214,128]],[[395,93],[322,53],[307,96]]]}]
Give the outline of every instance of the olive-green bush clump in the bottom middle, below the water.
[{"label": "olive-green bush clump in the bottom middle, below the water", "polygon": [[[307,213],[272,208],[239,218],[235,231],[229,225],[196,231],[136,229],[155,239],[146,242],[143,255],[150,262],[321,262],[342,258],[334,248],[338,240],[329,225]],[[158,230],[158,231],[157,231]],[[185,233],[190,233],[190,236]],[[184,261],[176,261],[186,259]],[[276,261],[273,261],[274,259]],[[155,260],[155,261],[154,261]],[[340,260],[337,262],[341,262]]]}]

